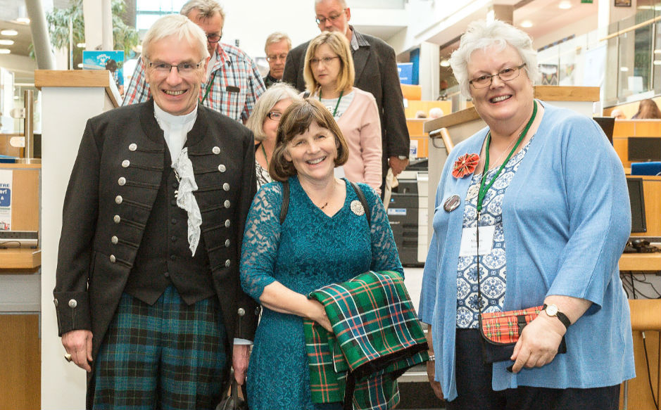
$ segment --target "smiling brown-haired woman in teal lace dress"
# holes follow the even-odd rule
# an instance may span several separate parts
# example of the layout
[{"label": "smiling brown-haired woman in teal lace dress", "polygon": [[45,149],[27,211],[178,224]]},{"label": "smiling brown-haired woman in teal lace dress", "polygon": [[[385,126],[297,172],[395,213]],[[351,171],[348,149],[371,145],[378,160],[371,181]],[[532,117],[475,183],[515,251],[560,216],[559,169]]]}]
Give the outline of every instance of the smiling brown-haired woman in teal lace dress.
[{"label": "smiling brown-haired woman in teal lace dress", "polygon": [[[284,113],[269,172],[248,214],[241,283],[263,306],[248,366],[253,410],[340,409],[310,401],[303,317],[331,330],[312,290],[368,270],[403,274],[388,217],[372,188],[359,184],[370,222],[346,179],[333,175],[348,149],[328,110],[308,99]],[[287,217],[280,224],[282,181],[289,184]]]}]

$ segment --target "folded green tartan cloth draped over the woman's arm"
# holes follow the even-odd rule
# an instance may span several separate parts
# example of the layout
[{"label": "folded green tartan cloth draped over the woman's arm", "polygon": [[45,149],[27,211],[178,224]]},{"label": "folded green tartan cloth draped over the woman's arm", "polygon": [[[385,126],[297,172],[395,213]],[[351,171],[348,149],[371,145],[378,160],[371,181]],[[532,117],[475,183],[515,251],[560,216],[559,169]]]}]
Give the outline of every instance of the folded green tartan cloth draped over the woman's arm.
[{"label": "folded green tartan cloth draped over the woman's arm", "polygon": [[354,409],[394,409],[398,376],[429,359],[401,275],[368,271],[308,297],[325,306],[334,331],[303,321],[313,402],[346,397],[353,399]]}]

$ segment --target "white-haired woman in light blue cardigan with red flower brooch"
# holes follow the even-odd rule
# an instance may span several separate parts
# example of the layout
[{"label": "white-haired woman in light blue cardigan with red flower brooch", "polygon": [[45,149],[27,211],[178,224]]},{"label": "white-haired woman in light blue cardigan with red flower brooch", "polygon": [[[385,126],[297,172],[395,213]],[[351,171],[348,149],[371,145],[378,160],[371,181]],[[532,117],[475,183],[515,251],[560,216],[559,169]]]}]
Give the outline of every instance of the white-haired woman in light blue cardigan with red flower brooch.
[{"label": "white-haired woman in light blue cardigan with red flower brooch", "polygon": [[[455,146],[436,192],[419,312],[432,386],[450,410],[617,409],[634,377],[622,163],[595,122],[534,100],[536,53],[515,27],[473,23],[451,64],[488,127]],[[484,364],[477,314],[538,305],[510,360]]]}]

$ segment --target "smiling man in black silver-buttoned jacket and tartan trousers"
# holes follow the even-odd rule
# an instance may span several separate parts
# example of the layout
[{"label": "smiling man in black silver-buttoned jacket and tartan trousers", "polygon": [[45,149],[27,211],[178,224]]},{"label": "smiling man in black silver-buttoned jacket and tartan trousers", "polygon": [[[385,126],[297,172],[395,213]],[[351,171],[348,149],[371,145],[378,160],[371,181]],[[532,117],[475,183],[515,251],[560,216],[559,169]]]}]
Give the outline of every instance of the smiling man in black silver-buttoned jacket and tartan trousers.
[{"label": "smiling man in black silver-buttoned jacket and tartan trousers", "polygon": [[[209,53],[183,15],[143,41],[146,103],[87,122],[53,290],[87,408],[212,409],[243,383],[256,303],[239,283],[256,191],[252,133],[198,101]],[[234,340],[234,347],[230,340]]]}]

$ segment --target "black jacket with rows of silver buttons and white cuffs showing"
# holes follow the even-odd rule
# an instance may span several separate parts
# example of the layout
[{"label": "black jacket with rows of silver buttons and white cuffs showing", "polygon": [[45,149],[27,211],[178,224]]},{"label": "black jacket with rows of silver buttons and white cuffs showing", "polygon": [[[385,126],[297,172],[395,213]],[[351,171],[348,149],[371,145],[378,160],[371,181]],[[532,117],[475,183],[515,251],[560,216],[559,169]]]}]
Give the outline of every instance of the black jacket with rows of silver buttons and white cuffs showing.
[{"label": "black jacket with rows of silver buttons and white cuffs showing", "polygon": [[[241,290],[239,261],[256,191],[253,134],[198,105],[186,146],[202,214],[204,249],[197,252],[207,252],[228,338],[252,340],[257,305]],[[59,335],[92,331],[94,359],[134,264],[167,149],[151,100],[87,121],[64,200],[53,295]]]}]

